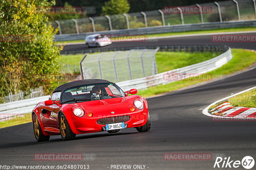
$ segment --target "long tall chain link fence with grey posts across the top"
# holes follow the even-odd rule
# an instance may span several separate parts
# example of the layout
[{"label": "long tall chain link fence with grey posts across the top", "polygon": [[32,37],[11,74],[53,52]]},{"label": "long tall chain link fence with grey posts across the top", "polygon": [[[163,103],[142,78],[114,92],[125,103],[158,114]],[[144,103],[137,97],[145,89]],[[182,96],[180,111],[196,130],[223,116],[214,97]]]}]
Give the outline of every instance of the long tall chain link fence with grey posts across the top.
[{"label": "long tall chain link fence with grey posts across the top", "polygon": [[[218,8],[218,5],[220,8]],[[220,21],[255,20],[256,8],[253,0],[222,1],[218,3],[195,4],[187,6],[190,9],[210,7],[210,12],[166,12],[164,9],[155,11],[135,12],[128,14],[79,18],[75,20],[53,21],[50,24],[57,28],[59,34],[79,34],[84,32],[99,32],[122,30],[162,25],[195,24]],[[177,7],[172,7],[177,10]],[[182,8],[182,7],[180,7]],[[58,25],[57,23],[60,23]]]}]

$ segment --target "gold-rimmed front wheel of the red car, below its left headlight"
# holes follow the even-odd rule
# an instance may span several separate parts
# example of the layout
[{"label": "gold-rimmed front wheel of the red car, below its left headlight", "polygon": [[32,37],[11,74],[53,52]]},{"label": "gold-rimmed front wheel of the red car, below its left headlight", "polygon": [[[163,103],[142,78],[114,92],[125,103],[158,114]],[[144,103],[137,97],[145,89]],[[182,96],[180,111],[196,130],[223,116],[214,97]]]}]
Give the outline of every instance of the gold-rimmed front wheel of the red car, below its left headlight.
[{"label": "gold-rimmed front wheel of the red car, below its left headlight", "polygon": [[59,125],[60,136],[63,140],[72,140],[76,138],[76,134],[71,131],[68,121],[63,113],[60,113]]}]

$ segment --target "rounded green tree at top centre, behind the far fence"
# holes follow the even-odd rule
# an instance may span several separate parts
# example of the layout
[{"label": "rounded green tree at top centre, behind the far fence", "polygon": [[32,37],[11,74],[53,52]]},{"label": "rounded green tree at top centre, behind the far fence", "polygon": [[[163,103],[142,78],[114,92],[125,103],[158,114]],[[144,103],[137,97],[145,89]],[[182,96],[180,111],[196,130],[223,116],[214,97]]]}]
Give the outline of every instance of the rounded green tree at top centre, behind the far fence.
[{"label": "rounded green tree at top centre, behind the far fence", "polygon": [[102,15],[123,14],[129,10],[130,4],[127,0],[110,0],[102,6]]}]

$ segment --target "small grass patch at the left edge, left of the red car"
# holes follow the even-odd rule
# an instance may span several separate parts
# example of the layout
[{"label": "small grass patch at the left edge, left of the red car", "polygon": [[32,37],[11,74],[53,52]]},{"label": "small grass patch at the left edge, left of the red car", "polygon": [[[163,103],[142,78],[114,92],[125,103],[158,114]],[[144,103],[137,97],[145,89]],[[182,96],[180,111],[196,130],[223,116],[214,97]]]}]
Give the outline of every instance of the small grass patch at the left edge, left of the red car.
[{"label": "small grass patch at the left edge, left of the red car", "polygon": [[32,122],[31,113],[10,117],[9,119],[10,120],[0,121],[0,128]]}]

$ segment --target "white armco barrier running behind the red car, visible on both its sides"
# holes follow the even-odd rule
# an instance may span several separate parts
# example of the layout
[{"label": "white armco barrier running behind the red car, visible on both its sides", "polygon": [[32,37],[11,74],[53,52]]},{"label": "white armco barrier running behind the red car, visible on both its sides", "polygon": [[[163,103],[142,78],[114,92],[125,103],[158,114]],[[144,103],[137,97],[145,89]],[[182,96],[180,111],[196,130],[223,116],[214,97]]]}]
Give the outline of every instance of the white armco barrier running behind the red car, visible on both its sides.
[{"label": "white armco barrier running behind the red car, visible on both its sides", "polygon": [[[166,48],[163,47],[162,49],[165,49],[166,51],[168,51],[168,47],[167,46],[165,47]],[[170,70],[164,73],[143,77],[139,79],[121,81],[121,82],[117,82],[116,84],[123,90],[130,90],[134,88],[146,89],[150,86],[173,82],[173,81],[164,81],[163,79],[164,74],[206,73],[208,71],[212,71],[218,67],[221,67],[222,65],[224,65],[225,63],[227,63],[229,60],[232,59],[231,49],[227,46],[212,46],[212,47],[195,46],[195,47],[196,47],[196,51],[205,51],[206,49],[208,49],[208,51],[211,51],[212,49],[214,49],[213,51],[225,51],[225,52],[215,58],[212,58],[207,61],[203,61],[201,63],[193,64],[191,66]],[[186,51],[186,49],[189,51],[192,48],[191,46],[180,46],[179,51]],[[0,104],[0,116],[1,114],[19,115],[19,114],[29,113],[33,110],[33,108],[36,106],[37,103],[48,100],[48,98],[49,96],[42,96],[42,97],[36,97],[31,99],[25,99],[25,100]]]}]

